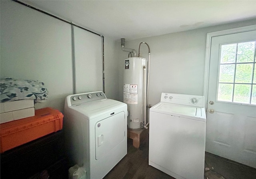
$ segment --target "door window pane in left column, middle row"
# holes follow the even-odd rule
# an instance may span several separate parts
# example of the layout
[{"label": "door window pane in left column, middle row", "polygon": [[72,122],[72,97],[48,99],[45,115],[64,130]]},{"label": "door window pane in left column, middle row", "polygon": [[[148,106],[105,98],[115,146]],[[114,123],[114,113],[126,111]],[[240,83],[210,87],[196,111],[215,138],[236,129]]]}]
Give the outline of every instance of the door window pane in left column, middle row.
[{"label": "door window pane in left column, middle row", "polygon": [[235,65],[220,65],[220,79],[222,83],[234,82]]}]

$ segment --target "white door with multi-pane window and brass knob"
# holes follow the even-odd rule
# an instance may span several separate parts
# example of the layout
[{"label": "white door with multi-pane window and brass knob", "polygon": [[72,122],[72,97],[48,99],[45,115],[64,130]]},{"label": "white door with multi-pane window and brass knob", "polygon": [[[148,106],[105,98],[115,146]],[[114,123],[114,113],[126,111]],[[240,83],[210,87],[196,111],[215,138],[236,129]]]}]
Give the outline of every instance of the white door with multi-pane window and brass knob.
[{"label": "white door with multi-pane window and brass knob", "polygon": [[256,30],[211,38],[206,151],[256,168]]}]

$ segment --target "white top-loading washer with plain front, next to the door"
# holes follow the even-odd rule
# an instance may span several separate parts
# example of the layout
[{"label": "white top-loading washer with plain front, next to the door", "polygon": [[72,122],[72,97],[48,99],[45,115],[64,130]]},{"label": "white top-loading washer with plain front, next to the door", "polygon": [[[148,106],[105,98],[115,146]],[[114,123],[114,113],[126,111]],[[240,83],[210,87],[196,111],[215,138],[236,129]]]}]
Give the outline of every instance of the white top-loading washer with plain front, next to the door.
[{"label": "white top-loading washer with plain front, next to the door", "polygon": [[149,115],[149,165],[176,179],[203,179],[204,96],[162,93]]}]

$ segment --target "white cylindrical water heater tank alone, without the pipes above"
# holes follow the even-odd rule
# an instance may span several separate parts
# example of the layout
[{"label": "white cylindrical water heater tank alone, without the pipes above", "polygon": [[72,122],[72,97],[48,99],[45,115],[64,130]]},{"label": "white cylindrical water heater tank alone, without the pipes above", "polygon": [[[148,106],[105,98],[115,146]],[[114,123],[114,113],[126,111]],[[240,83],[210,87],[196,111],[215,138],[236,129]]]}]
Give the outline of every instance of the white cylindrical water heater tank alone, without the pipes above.
[{"label": "white cylindrical water heater tank alone, without the pipes above", "polygon": [[129,129],[140,130],[145,125],[146,58],[130,57],[124,60],[123,102],[127,104]]}]

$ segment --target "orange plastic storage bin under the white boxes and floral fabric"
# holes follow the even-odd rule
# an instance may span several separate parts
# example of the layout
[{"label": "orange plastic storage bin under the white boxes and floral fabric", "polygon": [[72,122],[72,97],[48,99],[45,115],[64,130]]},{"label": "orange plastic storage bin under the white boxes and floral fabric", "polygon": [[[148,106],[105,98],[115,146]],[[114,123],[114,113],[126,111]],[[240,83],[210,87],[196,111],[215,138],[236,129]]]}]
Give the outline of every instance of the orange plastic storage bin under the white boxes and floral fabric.
[{"label": "orange plastic storage bin under the white boxes and floral fabric", "polygon": [[1,153],[61,130],[63,114],[57,109],[46,107],[35,110],[35,115],[0,124]]}]

